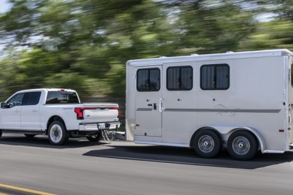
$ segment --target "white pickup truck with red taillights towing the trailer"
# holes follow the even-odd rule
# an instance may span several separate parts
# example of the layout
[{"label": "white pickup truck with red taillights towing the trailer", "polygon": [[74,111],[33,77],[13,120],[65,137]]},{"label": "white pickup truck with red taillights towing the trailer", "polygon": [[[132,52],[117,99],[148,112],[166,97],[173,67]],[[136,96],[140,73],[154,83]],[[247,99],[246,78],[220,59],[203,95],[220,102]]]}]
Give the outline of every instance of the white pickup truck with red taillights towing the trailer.
[{"label": "white pickup truck with red taillights towing the trailer", "polygon": [[69,137],[98,141],[103,130],[117,130],[118,104],[80,103],[76,91],[40,88],[18,91],[1,103],[2,133],[21,133],[26,137],[47,134],[50,143],[62,145]]}]

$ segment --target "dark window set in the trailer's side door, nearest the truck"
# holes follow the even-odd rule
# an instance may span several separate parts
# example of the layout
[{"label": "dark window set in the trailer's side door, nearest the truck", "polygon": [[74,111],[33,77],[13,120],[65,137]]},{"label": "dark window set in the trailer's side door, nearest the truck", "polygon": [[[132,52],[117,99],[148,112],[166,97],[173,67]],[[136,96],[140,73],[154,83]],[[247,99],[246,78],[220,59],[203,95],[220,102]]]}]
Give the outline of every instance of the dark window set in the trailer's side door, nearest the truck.
[{"label": "dark window set in the trailer's side door, nearest the truck", "polygon": [[137,70],[137,91],[159,91],[160,69],[148,68]]}]

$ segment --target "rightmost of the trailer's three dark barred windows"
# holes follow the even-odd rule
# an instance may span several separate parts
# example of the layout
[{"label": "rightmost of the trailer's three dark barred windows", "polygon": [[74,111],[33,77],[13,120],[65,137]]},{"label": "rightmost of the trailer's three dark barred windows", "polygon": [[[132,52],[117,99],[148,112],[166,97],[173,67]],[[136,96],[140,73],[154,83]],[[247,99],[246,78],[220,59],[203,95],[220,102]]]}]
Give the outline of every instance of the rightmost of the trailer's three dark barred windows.
[{"label": "rightmost of the trailer's three dark barred windows", "polygon": [[200,88],[202,90],[225,90],[230,86],[230,68],[227,64],[202,65]]}]

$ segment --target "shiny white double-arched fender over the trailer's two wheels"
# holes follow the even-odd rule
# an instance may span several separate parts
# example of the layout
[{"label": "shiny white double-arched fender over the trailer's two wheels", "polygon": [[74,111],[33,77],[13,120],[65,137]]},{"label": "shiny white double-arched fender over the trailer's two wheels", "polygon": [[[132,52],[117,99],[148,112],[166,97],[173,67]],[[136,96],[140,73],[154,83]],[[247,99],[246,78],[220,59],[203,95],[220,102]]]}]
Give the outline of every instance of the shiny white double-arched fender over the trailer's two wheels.
[{"label": "shiny white double-arched fender over the trailer's two wheels", "polygon": [[[209,125],[209,126],[200,127],[197,131],[205,130],[205,129],[214,130],[218,132],[218,134],[220,134],[220,136],[222,137],[223,141],[227,141],[227,139],[230,137],[230,135],[233,132],[236,132],[238,130],[247,130],[251,132],[252,134],[254,134],[255,137],[257,138],[257,142],[260,144],[259,147],[262,153],[264,153],[264,150],[266,150],[266,143],[264,141],[264,137],[262,137],[262,134],[260,134],[260,132],[258,132],[253,127],[241,127],[241,126],[234,126],[234,125]],[[194,132],[193,136],[196,134],[197,131]],[[192,139],[193,139],[193,136],[192,136]]]}]

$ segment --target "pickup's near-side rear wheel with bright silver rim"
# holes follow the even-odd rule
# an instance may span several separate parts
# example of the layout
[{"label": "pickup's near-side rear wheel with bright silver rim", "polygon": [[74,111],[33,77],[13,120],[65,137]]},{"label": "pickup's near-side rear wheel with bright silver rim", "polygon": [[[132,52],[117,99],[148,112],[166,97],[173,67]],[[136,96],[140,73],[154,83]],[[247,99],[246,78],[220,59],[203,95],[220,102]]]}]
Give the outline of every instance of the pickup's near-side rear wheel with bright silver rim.
[{"label": "pickup's near-side rear wheel with bright silver rim", "polygon": [[61,146],[69,139],[69,134],[65,125],[59,121],[54,120],[48,129],[48,138],[52,145]]}]

